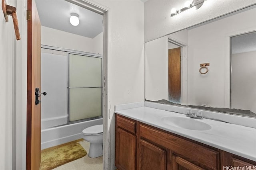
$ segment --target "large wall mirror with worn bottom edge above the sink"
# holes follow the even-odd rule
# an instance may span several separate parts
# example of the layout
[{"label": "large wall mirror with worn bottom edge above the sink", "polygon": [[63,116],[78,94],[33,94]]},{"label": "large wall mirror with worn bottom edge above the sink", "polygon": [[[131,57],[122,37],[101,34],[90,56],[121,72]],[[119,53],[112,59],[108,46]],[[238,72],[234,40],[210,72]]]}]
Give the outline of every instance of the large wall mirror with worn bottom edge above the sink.
[{"label": "large wall mirror with worn bottom edge above the sink", "polygon": [[256,117],[256,5],[145,43],[145,101]]}]

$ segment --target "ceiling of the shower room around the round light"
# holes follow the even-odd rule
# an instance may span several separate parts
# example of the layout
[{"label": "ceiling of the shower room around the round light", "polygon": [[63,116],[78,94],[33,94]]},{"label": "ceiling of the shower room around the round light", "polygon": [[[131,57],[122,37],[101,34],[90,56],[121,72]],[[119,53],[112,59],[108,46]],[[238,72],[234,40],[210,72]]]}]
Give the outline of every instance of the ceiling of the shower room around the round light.
[{"label": "ceiling of the shower room around the round light", "polygon": [[[36,7],[42,26],[89,38],[94,38],[102,32],[102,15],[65,0],[36,0]],[[71,13],[79,15],[79,25],[71,25]]]}]

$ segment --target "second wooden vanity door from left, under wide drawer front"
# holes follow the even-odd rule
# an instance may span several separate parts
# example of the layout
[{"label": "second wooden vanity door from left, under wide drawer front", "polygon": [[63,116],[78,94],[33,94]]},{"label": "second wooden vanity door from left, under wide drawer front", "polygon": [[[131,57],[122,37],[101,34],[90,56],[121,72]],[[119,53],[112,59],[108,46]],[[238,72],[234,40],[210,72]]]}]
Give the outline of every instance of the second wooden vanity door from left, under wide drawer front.
[{"label": "second wooden vanity door from left, under wide drawer front", "polygon": [[138,151],[140,170],[166,170],[166,151],[140,139]]}]

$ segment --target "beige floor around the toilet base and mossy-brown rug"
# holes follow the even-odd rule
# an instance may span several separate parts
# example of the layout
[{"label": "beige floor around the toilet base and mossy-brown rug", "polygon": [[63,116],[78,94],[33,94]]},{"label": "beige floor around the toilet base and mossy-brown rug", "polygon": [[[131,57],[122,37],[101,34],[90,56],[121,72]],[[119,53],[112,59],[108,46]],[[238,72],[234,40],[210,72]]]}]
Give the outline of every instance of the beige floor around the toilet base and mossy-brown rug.
[{"label": "beige floor around the toilet base and mossy-brown rug", "polygon": [[86,156],[54,168],[54,170],[102,170],[103,160],[102,156],[98,158],[90,158],[88,156],[90,143],[87,141],[78,142],[86,150]]}]

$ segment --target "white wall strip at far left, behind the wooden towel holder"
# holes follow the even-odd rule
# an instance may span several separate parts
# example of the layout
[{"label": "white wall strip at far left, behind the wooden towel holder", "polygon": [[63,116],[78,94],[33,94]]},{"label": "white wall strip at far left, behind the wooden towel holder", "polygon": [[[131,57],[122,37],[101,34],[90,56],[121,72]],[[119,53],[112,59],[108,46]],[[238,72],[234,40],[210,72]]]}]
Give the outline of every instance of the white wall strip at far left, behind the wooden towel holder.
[{"label": "white wall strip at far left, behind the wooden towel holder", "polygon": [[[10,2],[16,6],[16,2]],[[12,131],[14,101],[14,59],[16,58],[16,38],[13,22],[9,16],[5,22],[2,10],[0,20],[0,169],[12,169]],[[11,30],[11,31],[10,31]]]}]

